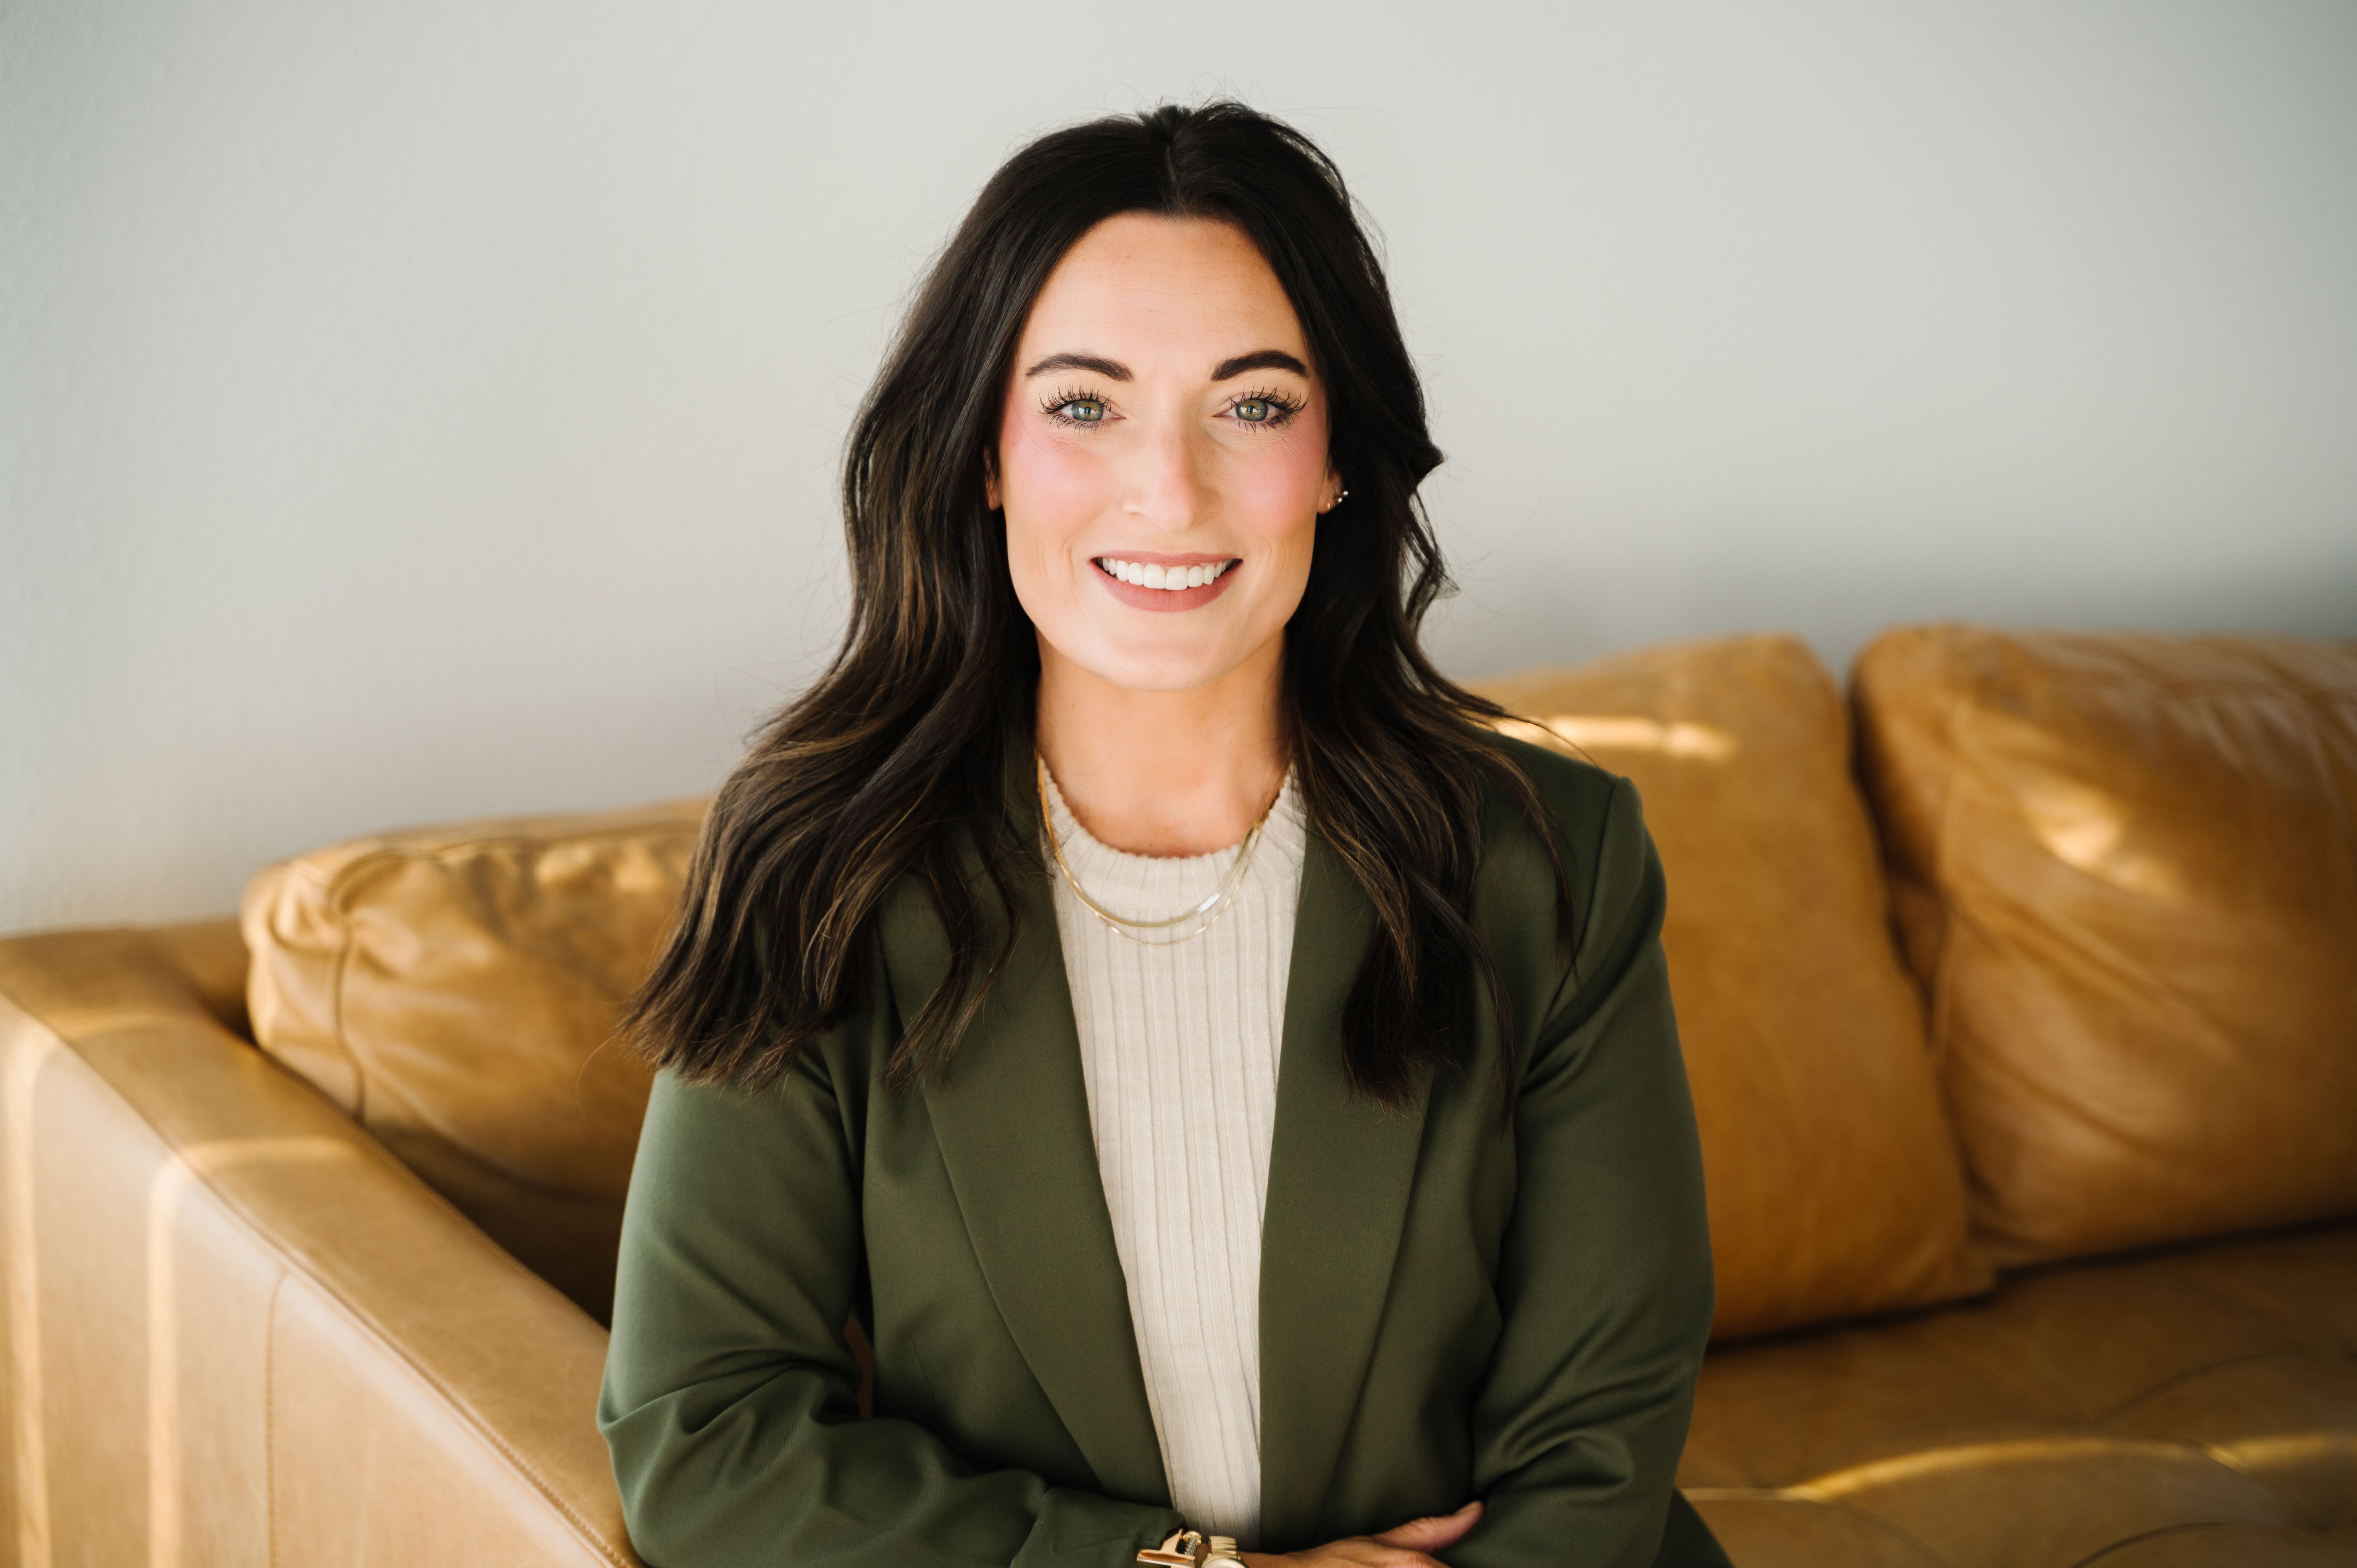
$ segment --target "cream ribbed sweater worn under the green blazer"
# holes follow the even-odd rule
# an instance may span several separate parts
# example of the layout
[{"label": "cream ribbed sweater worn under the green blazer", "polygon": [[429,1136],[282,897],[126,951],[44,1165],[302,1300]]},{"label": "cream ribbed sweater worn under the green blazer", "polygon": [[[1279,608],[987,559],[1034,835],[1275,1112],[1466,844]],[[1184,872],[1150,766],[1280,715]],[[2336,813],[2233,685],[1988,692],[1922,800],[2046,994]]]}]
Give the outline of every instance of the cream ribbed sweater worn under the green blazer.
[{"label": "cream ribbed sweater worn under the green blazer", "polygon": [[[1122,854],[1082,830],[1054,778],[1047,790],[1063,858],[1117,915],[1188,910],[1235,863],[1233,849]],[[1233,903],[1209,931],[1160,946],[1108,929],[1049,868],[1171,1507],[1247,1547],[1261,1526],[1261,1210],[1306,837],[1287,776]]]}]

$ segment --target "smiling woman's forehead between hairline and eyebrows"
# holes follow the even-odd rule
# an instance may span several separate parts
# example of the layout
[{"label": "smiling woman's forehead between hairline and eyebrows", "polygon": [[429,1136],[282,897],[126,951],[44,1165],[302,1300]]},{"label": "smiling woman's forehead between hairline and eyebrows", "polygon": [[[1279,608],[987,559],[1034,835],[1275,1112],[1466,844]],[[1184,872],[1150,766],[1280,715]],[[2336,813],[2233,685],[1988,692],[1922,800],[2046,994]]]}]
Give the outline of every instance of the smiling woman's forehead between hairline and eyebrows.
[{"label": "smiling woman's forehead between hairline and eyebrows", "polygon": [[1049,274],[1023,323],[1021,354],[1153,361],[1155,349],[1211,361],[1287,349],[1308,363],[1285,285],[1242,229],[1200,217],[1108,217]]}]

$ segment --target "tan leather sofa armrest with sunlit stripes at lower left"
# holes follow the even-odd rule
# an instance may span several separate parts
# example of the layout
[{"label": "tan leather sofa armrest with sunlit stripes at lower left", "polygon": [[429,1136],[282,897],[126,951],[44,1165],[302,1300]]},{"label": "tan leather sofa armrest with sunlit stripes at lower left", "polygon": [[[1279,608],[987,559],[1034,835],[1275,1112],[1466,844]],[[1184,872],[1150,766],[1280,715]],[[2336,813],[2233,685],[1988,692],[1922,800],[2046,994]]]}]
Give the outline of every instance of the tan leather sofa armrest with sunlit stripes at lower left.
[{"label": "tan leather sofa armrest with sunlit stripes at lower left", "polygon": [[0,941],[0,1556],[636,1563],[603,1330],[231,1033],[217,936]]}]

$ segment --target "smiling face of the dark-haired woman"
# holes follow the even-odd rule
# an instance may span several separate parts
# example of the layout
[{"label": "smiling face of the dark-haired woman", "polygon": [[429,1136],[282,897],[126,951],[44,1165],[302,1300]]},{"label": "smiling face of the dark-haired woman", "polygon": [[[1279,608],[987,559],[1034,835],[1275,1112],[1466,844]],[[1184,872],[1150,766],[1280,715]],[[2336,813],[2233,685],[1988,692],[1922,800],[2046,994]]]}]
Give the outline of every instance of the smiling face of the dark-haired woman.
[{"label": "smiling face of the dark-haired woman", "polygon": [[1273,658],[1339,490],[1301,323],[1240,229],[1124,215],[1065,252],[990,469],[1042,660],[1188,691]]}]

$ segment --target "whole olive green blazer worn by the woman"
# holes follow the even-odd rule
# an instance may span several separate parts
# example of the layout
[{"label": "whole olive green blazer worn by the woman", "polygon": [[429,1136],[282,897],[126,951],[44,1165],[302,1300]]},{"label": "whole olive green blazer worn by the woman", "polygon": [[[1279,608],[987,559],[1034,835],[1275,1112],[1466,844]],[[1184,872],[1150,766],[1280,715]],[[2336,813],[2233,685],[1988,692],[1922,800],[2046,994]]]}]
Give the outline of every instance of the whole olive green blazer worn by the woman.
[{"label": "whole olive green blazer worn by the woman", "polygon": [[[1556,818],[1579,910],[1565,962],[1544,846],[1494,797],[1473,915],[1511,997],[1511,1129],[1487,997],[1468,1070],[1426,1073],[1405,1115],[1346,1094],[1336,1030],[1372,913],[1308,839],[1261,1240],[1256,1544],[1483,1497],[1440,1554],[1454,1568],[1725,1563],[1671,1488],[1711,1250],[1662,868],[1626,780],[1501,745]],[[1028,830],[1011,750],[1004,804]],[[872,1004],[778,1087],[658,1078],[599,1405],[658,1568],[1117,1568],[1178,1526],[1047,875],[1025,868],[1014,905],[1014,957],[922,1089],[882,1078],[950,962],[915,877],[879,917]],[[874,1346],[870,1419],[851,1316]]]}]

